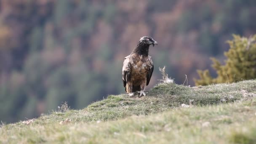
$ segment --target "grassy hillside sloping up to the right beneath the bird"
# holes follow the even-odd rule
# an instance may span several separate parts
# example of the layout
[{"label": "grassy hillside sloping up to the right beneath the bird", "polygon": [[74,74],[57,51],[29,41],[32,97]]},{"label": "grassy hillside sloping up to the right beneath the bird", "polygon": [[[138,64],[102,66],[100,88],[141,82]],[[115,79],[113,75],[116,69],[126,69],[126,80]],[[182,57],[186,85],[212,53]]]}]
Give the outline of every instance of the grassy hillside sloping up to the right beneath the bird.
[{"label": "grassy hillside sloping up to the right beneath the bird", "polygon": [[[108,96],[85,109],[3,125],[0,143],[247,143],[256,141],[256,81]],[[28,121],[27,121],[28,122]]]}]

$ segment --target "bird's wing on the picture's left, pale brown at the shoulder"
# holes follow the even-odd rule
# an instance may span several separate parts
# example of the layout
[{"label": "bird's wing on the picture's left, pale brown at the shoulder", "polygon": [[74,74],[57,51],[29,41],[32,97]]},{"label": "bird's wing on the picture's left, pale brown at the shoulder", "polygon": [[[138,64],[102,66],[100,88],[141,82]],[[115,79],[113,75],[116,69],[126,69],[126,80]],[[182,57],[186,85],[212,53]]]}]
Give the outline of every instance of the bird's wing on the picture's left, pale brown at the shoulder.
[{"label": "bird's wing on the picture's left, pale brown at the shoulder", "polygon": [[[126,86],[126,83],[131,80],[131,56],[126,56],[123,60],[123,86]],[[125,90],[126,91],[126,90]]]}]

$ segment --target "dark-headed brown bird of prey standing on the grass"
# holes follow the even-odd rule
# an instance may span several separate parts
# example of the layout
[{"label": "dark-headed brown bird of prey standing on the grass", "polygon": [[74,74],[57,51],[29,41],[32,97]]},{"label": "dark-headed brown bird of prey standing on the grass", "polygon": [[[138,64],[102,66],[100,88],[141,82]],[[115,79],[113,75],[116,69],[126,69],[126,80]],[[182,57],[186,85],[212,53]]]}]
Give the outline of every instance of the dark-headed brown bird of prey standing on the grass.
[{"label": "dark-headed brown bird of prey standing on the grass", "polygon": [[141,37],[131,54],[123,60],[123,86],[129,96],[134,96],[135,92],[140,93],[139,97],[146,96],[145,89],[154,71],[153,62],[149,56],[150,45],[154,47],[157,41],[152,37]]}]

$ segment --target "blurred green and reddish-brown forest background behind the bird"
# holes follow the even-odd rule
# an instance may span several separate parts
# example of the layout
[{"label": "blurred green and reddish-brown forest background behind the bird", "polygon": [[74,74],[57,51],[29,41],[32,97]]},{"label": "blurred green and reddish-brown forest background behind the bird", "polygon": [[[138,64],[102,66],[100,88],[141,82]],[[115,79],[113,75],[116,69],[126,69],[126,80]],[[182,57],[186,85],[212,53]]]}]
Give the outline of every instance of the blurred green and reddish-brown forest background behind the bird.
[{"label": "blurred green and reddish-brown forest background behind the bird", "polygon": [[0,0],[0,120],[86,107],[124,93],[123,58],[142,36],[155,71],[195,85],[197,69],[223,61],[232,34],[256,33],[256,0]]}]

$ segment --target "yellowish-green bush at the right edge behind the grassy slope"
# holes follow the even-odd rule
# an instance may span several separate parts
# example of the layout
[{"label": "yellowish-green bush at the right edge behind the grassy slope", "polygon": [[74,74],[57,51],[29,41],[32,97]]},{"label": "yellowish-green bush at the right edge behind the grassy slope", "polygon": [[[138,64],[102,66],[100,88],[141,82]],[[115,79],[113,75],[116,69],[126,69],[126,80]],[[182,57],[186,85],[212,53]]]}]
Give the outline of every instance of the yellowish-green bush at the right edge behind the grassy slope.
[{"label": "yellowish-green bush at the right edge behind the grassy slope", "polygon": [[234,39],[227,41],[230,48],[224,52],[227,57],[224,65],[215,59],[212,67],[217,72],[213,78],[209,70],[198,70],[200,79],[194,79],[195,85],[209,85],[213,83],[234,83],[240,80],[250,80],[256,77],[256,35],[240,37],[233,35]]}]

